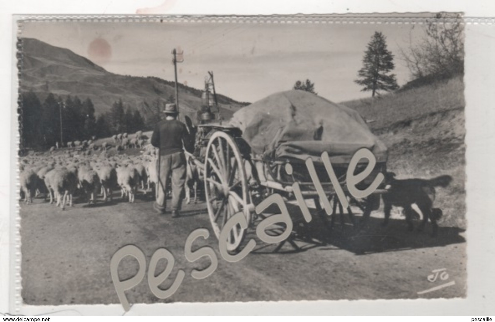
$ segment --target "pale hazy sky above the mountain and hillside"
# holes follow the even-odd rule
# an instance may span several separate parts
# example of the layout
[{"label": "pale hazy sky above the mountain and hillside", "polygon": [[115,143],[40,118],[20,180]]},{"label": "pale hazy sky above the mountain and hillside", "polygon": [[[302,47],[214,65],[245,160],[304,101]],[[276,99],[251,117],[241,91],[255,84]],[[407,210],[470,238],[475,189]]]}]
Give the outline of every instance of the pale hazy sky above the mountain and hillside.
[{"label": "pale hazy sky above the mountain and hillside", "polygon": [[213,71],[217,93],[255,102],[291,89],[297,80],[315,83],[334,102],[371,96],[353,82],[375,31],[395,55],[399,85],[410,77],[400,50],[424,35],[418,24],[211,22],[132,19],[23,22],[21,36],[67,48],[106,70],[124,75],[174,79],[171,51],[183,52],[178,81],[204,87]]}]

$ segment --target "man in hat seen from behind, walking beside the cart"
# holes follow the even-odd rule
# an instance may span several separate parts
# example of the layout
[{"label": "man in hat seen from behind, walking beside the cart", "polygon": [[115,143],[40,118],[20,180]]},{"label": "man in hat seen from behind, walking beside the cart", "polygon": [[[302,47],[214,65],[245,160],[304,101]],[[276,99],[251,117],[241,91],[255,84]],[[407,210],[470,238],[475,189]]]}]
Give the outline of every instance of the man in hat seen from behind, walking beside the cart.
[{"label": "man in hat seen from behind, walking beside the cart", "polygon": [[184,184],[186,181],[186,156],[184,149],[189,132],[184,123],[177,119],[177,105],[167,104],[163,111],[165,119],[155,125],[151,144],[159,149],[158,162],[158,197],[153,208],[159,214],[165,214],[167,202],[167,184],[172,180],[172,217],[179,217],[184,199]]}]

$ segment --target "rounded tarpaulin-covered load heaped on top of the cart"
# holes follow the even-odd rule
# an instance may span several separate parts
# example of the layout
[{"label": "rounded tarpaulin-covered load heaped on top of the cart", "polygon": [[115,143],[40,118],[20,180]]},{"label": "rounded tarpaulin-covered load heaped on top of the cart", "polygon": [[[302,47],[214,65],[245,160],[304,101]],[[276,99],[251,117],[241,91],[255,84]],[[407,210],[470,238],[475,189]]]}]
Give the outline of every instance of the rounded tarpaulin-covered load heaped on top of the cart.
[{"label": "rounded tarpaulin-covered load heaped on top of the cart", "polygon": [[270,95],[235,112],[230,124],[255,154],[270,158],[319,160],[327,151],[332,162],[347,163],[367,148],[378,162],[387,160],[387,148],[357,111],[305,91]]}]

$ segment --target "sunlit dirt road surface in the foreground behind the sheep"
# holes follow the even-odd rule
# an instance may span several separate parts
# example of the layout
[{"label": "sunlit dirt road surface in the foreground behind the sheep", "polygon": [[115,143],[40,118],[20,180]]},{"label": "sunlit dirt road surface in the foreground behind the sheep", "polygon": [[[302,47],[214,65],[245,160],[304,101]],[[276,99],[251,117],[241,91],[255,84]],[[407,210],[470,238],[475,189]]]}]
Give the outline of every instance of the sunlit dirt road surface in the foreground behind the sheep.
[{"label": "sunlit dirt road surface in the foreground behind the sheep", "polygon": [[[339,218],[332,232],[314,218],[306,226],[295,224],[293,242],[258,244],[238,263],[220,256],[210,228],[204,203],[185,205],[184,215],[158,215],[148,199],[135,204],[120,200],[87,206],[76,204],[65,211],[35,200],[21,205],[22,297],[32,305],[119,303],[110,274],[112,255],[125,245],[139,247],[149,264],[158,248],[166,248],[175,258],[171,276],[179,268],[185,278],[171,297],[156,298],[148,287],[147,275],[126,291],[129,302],[218,302],[319,299],[396,299],[464,297],[466,258],[464,233],[441,226],[439,237],[425,232],[408,232],[403,218],[396,215],[387,228],[381,227],[383,213],[372,214],[369,224],[355,231]],[[298,215],[291,213],[295,218]],[[215,249],[218,268],[198,280],[193,268],[209,266],[209,260],[189,263],[184,257],[187,236],[197,228],[207,228],[210,237],[198,238],[197,249]],[[252,233],[250,235],[252,237]],[[296,249],[297,246],[300,249]],[[158,263],[155,274],[167,262]],[[429,281],[433,270],[445,273]],[[119,265],[120,279],[138,271],[137,261],[126,257]],[[147,268],[148,274],[148,268]],[[433,280],[435,276],[430,277]],[[160,285],[166,288],[170,278]],[[437,286],[443,288],[424,292]]]}]

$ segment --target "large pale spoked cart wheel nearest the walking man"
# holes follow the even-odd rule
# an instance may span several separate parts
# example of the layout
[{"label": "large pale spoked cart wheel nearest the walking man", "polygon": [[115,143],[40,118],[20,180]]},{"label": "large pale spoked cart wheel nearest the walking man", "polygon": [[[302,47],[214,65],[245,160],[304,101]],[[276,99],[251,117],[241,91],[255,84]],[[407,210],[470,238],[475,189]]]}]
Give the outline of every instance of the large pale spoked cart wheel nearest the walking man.
[{"label": "large pale spoked cart wheel nearest the walking man", "polygon": [[[213,133],[206,147],[204,191],[211,226],[217,238],[227,220],[243,212],[250,222],[249,194],[244,159],[232,137],[222,131]],[[246,229],[234,226],[227,239],[227,250],[235,252]]]}]

